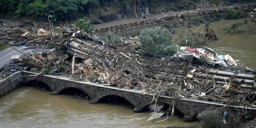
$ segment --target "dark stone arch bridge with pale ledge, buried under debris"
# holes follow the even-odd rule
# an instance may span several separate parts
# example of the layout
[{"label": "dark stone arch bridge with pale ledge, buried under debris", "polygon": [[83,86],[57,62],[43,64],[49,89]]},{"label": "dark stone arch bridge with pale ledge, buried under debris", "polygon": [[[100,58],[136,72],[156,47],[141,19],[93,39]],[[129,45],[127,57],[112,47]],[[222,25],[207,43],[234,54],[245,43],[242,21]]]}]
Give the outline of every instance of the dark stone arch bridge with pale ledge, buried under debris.
[{"label": "dark stone arch bridge with pale ledge, buried under debris", "polygon": [[[26,85],[31,81],[41,81],[52,89],[52,95],[58,95],[59,92],[66,88],[77,88],[84,91],[91,100],[90,103],[97,103],[101,98],[106,96],[118,96],[126,99],[134,106],[134,112],[142,112],[142,109],[149,105],[153,99],[152,94],[146,94],[145,91],[135,89],[125,89],[104,86],[104,84],[91,83],[89,81],[77,81],[73,77],[56,76],[56,75],[42,75],[38,76],[36,73],[20,71],[0,80],[0,97],[6,95],[14,89]],[[174,98],[168,96],[160,96],[159,103],[172,104]],[[209,110],[209,108],[216,109],[225,107],[225,104],[220,102],[211,102],[206,100],[198,100],[195,97],[182,98],[175,103],[175,108],[184,114],[184,122],[193,122],[197,113]],[[245,108],[241,106],[229,105],[229,110],[237,112],[237,110],[247,111],[251,116],[256,116],[255,108]]]}]

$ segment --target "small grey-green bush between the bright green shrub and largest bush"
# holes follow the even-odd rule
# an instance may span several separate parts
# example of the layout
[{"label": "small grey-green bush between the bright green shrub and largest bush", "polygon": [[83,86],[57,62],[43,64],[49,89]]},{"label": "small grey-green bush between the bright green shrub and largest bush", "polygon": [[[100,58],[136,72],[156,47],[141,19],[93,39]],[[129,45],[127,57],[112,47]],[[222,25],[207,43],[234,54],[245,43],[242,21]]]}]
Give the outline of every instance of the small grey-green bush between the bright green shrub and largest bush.
[{"label": "small grey-green bush between the bright green shrub and largest bush", "polygon": [[111,45],[113,43],[122,43],[121,38],[110,31],[107,32],[103,37],[100,37],[100,39],[108,45]]}]

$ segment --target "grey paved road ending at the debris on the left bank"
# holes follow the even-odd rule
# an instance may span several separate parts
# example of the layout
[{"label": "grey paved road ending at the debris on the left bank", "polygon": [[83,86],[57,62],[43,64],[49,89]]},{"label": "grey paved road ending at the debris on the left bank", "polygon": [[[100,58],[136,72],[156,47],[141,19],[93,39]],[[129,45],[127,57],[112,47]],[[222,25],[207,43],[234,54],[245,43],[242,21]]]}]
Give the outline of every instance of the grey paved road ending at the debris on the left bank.
[{"label": "grey paved road ending at the debris on the left bank", "polygon": [[[14,46],[17,50],[30,55],[30,51],[29,49],[24,50],[26,48],[26,46]],[[47,52],[50,51],[51,49],[41,49],[41,48],[37,48],[37,49],[30,49],[33,53],[39,53],[39,52]],[[6,48],[3,51],[0,51],[0,67],[3,67],[5,64],[8,64],[11,60],[11,56],[13,55],[20,55],[20,58],[24,55],[18,51],[16,51],[13,48]]]}]

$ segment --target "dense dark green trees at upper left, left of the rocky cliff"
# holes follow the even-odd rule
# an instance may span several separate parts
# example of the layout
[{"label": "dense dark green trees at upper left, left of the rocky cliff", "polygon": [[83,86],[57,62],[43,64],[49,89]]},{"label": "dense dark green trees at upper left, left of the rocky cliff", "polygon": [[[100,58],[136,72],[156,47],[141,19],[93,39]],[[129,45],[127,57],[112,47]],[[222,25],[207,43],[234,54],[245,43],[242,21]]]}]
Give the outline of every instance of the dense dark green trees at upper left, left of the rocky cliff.
[{"label": "dense dark green trees at upper left, left of the rocky cliff", "polygon": [[74,19],[88,13],[89,8],[98,7],[102,0],[1,0],[2,15],[33,16],[46,18],[55,15],[59,19]]}]

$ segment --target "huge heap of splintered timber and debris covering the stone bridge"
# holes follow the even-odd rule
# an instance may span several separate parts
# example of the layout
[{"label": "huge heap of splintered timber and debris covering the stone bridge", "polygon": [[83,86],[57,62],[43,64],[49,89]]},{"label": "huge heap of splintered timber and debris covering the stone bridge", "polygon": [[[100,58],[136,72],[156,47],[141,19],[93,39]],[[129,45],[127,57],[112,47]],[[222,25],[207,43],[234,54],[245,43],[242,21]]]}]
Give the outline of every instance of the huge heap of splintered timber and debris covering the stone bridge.
[{"label": "huge heap of splintered timber and debris covering the stone bridge", "polygon": [[[242,74],[247,72],[246,70],[229,69],[232,72],[225,72],[208,68],[207,65],[191,66],[191,61],[140,56],[140,43],[131,39],[122,44],[113,43],[104,47],[96,35],[81,32],[80,37],[83,38],[72,41],[67,39],[62,43],[66,49],[65,55],[34,55],[33,58],[24,58],[23,62],[37,68],[37,72],[42,74],[68,74],[79,77],[80,80],[88,78],[105,86],[144,90],[155,95],[156,99],[152,103],[155,103],[159,96],[171,96],[176,100],[198,97],[256,107],[255,76]],[[208,60],[214,57],[214,53],[209,49],[201,50],[204,50],[203,55]],[[198,53],[202,52],[199,51]],[[194,56],[191,55],[190,57]],[[169,108],[169,114],[171,113],[172,108]]]}]

